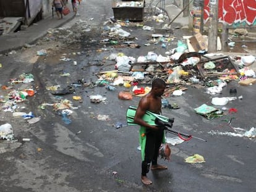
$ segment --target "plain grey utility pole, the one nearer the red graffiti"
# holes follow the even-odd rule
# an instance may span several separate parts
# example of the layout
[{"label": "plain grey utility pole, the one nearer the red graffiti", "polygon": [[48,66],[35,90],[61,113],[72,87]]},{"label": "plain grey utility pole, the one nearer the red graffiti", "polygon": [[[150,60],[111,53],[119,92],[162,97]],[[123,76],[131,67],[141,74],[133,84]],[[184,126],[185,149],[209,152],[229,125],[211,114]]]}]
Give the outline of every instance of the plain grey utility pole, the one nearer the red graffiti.
[{"label": "plain grey utility pole, the one nearer the red graffiti", "polygon": [[208,30],[208,52],[217,51],[218,37],[218,0],[210,0],[210,23]]}]

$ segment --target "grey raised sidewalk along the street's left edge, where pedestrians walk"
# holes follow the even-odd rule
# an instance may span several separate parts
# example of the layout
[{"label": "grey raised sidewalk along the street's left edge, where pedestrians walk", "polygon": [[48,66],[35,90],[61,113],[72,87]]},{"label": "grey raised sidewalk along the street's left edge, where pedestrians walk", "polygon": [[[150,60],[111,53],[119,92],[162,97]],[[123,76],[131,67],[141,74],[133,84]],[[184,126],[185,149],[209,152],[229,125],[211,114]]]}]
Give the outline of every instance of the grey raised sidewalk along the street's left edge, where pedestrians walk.
[{"label": "grey raised sidewalk along the street's left edge, where pedestrians walk", "polygon": [[70,13],[65,16],[63,15],[63,19],[58,20],[54,10],[54,18],[52,15],[49,15],[49,17],[30,25],[27,30],[0,36],[0,54],[20,49],[25,44],[35,43],[36,40],[47,34],[49,28],[61,27],[64,23],[74,19],[75,14],[72,12],[72,7],[70,7],[70,4],[67,6],[70,9]]}]

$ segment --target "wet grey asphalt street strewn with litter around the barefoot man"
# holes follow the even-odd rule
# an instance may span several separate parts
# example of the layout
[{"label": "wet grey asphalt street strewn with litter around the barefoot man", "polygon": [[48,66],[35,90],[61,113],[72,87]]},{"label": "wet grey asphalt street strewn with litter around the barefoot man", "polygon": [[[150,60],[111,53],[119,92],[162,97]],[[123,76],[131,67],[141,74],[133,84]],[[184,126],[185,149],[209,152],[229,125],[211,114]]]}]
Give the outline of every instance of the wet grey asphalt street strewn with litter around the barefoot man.
[{"label": "wet grey asphalt street strewn with litter around the barefoot man", "polygon": [[[122,29],[130,36],[118,38],[109,36],[109,28],[116,24],[109,19],[113,16],[110,0],[82,1],[77,8],[78,15],[73,20],[60,28],[49,29],[48,34],[31,47],[0,56],[0,85],[7,87],[0,90],[1,99],[10,97],[10,90],[32,88],[35,91],[35,95],[11,107],[1,103],[5,107],[0,109],[0,125],[10,123],[15,138],[0,140],[0,191],[255,191],[255,138],[224,134],[238,133],[236,128],[250,130],[256,124],[255,84],[242,86],[237,80],[227,81],[221,93],[215,95],[207,93],[203,81],[196,84],[201,86],[168,85],[168,88],[186,88],[181,96],[163,97],[179,106],[179,109],[163,108],[164,116],[174,117],[173,130],[207,142],[192,138],[170,145],[171,161],[159,160],[168,170],[150,171],[148,177],[153,184],[141,183],[139,127],[116,128],[117,123],[126,125],[126,111],[129,106],[137,106],[140,97],[119,99],[120,91],[132,92],[132,87],[114,85],[115,90],[107,90],[97,84],[100,72],[115,70],[116,61],[109,59],[111,54],[122,53],[137,59],[153,51],[165,56],[166,51],[177,48],[182,36],[192,33],[174,22],[173,33],[163,48],[161,42],[150,41],[154,32],[143,30],[141,25],[160,29],[170,21],[167,18],[160,23],[145,14],[143,23],[124,21]],[[139,48],[127,46],[125,41],[134,41]],[[149,42],[150,45],[145,46]],[[36,54],[43,50],[47,53]],[[230,52],[229,56],[234,55]],[[254,69],[255,65],[256,62],[252,65]],[[14,83],[22,74],[32,74],[34,81]],[[138,86],[150,86],[156,76],[148,75]],[[58,89],[54,90],[53,86]],[[227,108],[224,115],[209,120],[195,112],[202,104],[211,106],[213,97],[229,97],[231,88],[236,88],[236,96],[242,99],[229,101],[224,106]],[[95,95],[104,97],[105,101],[92,102],[90,96]],[[80,98],[74,99],[74,96]],[[65,116],[63,109],[69,109],[71,114]],[[228,109],[237,109],[237,112],[229,113]],[[14,117],[14,112],[33,112],[40,120],[28,123],[27,119]],[[168,138],[174,136],[167,133]],[[185,162],[194,154],[203,156],[205,162]]]}]

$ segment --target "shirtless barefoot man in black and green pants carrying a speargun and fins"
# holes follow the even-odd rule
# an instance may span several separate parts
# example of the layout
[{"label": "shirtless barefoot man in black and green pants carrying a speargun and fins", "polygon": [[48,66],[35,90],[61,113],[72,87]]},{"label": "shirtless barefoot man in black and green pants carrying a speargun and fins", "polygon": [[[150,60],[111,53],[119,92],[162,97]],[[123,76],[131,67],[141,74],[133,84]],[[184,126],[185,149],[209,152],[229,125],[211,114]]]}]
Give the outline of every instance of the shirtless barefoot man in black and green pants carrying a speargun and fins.
[{"label": "shirtless barefoot man in black and green pants carrying a speargun and fins", "polygon": [[147,178],[150,163],[151,170],[167,169],[166,166],[157,164],[158,151],[164,138],[163,128],[149,125],[142,117],[146,111],[155,114],[161,113],[161,96],[164,93],[166,84],[160,78],[153,80],[151,91],[144,96],[137,107],[134,123],[140,125],[140,146],[142,148],[142,183],[150,185],[152,182]]}]

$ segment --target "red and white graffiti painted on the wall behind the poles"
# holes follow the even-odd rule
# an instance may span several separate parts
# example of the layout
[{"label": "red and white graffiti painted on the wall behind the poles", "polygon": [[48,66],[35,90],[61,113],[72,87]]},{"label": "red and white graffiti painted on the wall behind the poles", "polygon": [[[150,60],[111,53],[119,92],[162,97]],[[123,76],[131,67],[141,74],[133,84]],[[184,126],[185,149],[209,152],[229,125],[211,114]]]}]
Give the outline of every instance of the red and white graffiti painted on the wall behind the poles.
[{"label": "red and white graffiti painted on the wall behind the poles", "polygon": [[[205,0],[203,19],[210,17],[210,0]],[[229,25],[246,22],[252,25],[256,20],[256,0],[219,0],[218,20]]]}]

